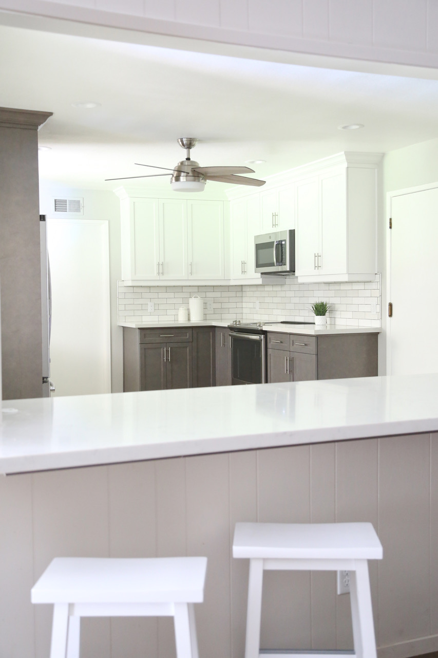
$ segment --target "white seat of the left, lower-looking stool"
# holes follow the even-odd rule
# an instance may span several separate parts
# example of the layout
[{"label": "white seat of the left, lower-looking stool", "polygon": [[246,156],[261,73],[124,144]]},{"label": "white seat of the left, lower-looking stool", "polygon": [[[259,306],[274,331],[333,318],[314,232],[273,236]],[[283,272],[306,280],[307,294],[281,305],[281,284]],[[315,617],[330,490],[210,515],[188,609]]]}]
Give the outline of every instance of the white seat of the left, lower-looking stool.
[{"label": "white seat of the left, lower-looking stool", "polygon": [[207,557],[55,557],[32,603],[201,603]]}]

